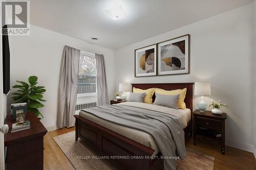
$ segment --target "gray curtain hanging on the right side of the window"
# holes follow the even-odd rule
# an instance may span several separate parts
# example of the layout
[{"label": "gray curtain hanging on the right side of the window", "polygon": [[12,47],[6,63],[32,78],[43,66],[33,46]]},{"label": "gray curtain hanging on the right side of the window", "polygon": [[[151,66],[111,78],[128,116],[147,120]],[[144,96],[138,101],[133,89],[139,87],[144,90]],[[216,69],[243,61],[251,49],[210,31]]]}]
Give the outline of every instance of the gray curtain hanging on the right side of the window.
[{"label": "gray curtain hanging on the right side of the window", "polygon": [[95,54],[97,69],[98,106],[109,104],[109,92],[106,84],[105,60],[102,54]]}]

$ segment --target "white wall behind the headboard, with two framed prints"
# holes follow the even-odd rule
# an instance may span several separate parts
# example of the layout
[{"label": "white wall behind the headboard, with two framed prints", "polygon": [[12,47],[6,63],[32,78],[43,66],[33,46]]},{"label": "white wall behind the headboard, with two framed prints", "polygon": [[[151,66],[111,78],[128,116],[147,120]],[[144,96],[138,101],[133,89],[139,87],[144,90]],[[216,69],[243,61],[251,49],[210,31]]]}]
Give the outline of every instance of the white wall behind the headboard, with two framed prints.
[{"label": "white wall behind the headboard, with two framed prints", "polygon": [[[135,49],[185,34],[190,34],[190,74],[134,77]],[[115,65],[116,90],[118,90],[118,83],[122,82],[211,82],[212,95],[210,98],[220,99],[230,107],[223,109],[228,114],[226,143],[233,147],[252,151],[252,4],[120,48],[115,52]],[[210,98],[207,99],[208,103]],[[199,97],[195,97],[194,110],[197,109],[198,101]]]}]

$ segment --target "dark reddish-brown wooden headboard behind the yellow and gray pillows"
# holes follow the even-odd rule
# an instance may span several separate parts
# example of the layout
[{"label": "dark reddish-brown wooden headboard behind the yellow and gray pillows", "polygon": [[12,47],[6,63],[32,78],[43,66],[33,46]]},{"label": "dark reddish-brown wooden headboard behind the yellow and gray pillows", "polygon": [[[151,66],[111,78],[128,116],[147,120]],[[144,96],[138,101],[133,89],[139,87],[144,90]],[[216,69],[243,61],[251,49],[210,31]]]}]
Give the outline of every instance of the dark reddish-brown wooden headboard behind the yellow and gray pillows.
[{"label": "dark reddish-brown wooden headboard behind the yellow and gray pillows", "polygon": [[[191,110],[191,113],[193,112],[193,84],[194,83],[146,83],[146,84],[132,84],[135,88],[140,89],[148,89],[148,88],[161,88],[164,90],[176,90],[176,89],[183,89],[187,88],[186,97],[185,97],[185,104],[186,108]],[[155,94],[153,95],[153,102],[155,101]]]}]

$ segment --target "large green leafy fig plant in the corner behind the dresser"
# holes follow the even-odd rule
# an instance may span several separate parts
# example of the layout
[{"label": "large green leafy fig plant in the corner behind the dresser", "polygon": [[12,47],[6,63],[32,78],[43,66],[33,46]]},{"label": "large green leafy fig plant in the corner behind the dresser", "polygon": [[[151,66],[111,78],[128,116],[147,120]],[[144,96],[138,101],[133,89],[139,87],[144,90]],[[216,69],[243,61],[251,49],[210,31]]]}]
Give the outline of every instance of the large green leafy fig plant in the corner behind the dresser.
[{"label": "large green leafy fig plant in the corner behind the dresser", "polygon": [[41,102],[46,102],[46,100],[42,99],[46,89],[44,86],[36,86],[37,79],[36,76],[30,76],[28,79],[29,83],[16,81],[20,84],[12,86],[18,89],[17,92],[12,93],[15,95],[12,98],[15,103],[27,103],[27,111],[33,112],[37,117],[41,115],[44,118],[38,108],[45,106]]}]

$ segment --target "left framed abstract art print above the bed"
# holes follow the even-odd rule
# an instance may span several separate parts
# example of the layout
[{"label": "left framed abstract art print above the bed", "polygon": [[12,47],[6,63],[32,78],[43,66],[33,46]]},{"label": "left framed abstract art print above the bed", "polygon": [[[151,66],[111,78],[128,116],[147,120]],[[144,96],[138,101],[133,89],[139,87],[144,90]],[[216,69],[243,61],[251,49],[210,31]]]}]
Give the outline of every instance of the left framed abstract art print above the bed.
[{"label": "left framed abstract art print above the bed", "polygon": [[135,77],[157,75],[157,44],[135,50]]}]

